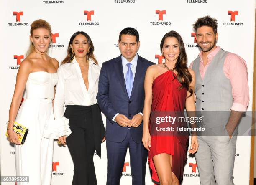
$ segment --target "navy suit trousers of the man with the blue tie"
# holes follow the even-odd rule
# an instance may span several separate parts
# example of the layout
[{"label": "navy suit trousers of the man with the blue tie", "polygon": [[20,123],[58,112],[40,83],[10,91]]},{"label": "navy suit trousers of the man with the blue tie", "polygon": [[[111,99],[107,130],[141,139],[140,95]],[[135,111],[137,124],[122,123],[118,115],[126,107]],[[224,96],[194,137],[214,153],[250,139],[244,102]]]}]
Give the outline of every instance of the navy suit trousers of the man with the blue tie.
[{"label": "navy suit trousers of the man with the blue tie", "polygon": [[130,129],[123,142],[106,141],[108,157],[107,185],[119,185],[122,176],[127,148],[130,153],[132,185],[145,185],[145,173],[148,151],[143,144],[136,143]]}]

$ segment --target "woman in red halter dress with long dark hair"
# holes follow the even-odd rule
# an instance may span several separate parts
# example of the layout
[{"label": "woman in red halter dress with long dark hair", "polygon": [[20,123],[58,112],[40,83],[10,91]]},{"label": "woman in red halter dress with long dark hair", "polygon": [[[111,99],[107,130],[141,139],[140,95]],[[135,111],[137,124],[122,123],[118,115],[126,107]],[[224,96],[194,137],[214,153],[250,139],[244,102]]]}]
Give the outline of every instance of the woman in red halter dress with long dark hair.
[{"label": "woman in red halter dress with long dark hair", "polygon": [[[166,33],[160,48],[165,63],[148,67],[145,77],[142,142],[148,150],[153,182],[179,185],[187,161],[189,132],[176,130],[187,127],[186,122],[169,123],[166,116],[183,117],[184,108],[195,111],[195,72],[187,68],[187,55],[179,33]],[[168,130],[170,127],[172,130]],[[197,136],[191,138],[189,153],[194,154],[198,149]]]}]

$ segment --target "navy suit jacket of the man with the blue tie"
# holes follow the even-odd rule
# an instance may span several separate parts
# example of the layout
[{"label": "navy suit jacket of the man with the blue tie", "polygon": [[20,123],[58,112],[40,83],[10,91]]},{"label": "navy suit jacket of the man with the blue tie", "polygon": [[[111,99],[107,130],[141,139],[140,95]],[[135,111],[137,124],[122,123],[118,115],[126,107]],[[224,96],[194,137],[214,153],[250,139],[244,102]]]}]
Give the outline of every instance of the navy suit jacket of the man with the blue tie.
[{"label": "navy suit jacket of the man with the blue tie", "polygon": [[[128,119],[132,119],[135,114],[143,112],[145,74],[147,68],[153,64],[155,63],[138,56],[130,98],[126,91],[121,55],[102,64],[99,79],[99,91],[96,98],[101,111],[107,117],[107,140],[112,142],[122,142],[128,132],[128,127],[121,127],[116,122],[113,122],[112,119],[115,114],[120,113],[128,117]],[[130,127],[130,131],[133,141],[137,143],[141,142],[143,122],[137,128]]]}]

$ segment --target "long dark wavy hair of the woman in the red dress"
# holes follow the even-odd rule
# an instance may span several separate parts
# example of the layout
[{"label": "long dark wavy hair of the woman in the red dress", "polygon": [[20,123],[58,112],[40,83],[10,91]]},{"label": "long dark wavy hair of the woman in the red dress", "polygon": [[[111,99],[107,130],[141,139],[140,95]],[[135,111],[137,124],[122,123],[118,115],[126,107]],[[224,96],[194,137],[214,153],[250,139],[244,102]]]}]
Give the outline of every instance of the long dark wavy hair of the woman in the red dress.
[{"label": "long dark wavy hair of the woman in the red dress", "polygon": [[185,87],[187,89],[187,91],[190,92],[189,96],[192,96],[193,90],[189,86],[189,84],[192,81],[192,75],[189,73],[189,70],[187,68],[187,54],[186,54],[186,51],[185,51],[185,47],[184,47],[184,43],[182,41],[182,38],[179,35],[179,33],[177,33],[176,31],[170,31],[170,32],[166,33],[164,35],[164,37],[162,38],[162,41],[160,43],[161,51],[164,47],[164,41],[167,37],[177,38],[177,40],[179,42],[180,54],[179,54],[179,57],[178,57],[177,62],[175,64],[174,70],[176,70],[177,73],[178,73],[177,74],[177,80],[179,81],[179,83],[182,84],[182,86],[180,88],[182,89],[183,87]]}]

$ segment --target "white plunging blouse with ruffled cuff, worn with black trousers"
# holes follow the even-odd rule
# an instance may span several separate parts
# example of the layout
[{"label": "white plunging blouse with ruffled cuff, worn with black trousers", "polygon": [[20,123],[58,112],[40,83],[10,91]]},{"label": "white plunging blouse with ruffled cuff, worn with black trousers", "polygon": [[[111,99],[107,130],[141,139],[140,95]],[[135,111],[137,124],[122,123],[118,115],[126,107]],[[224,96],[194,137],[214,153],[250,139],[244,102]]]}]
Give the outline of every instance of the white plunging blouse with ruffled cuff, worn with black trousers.
[{"label": "white plunging blouse with ruffled cuff, worn with black trousers", "polygon": [[58,139],[61,136],[69,136],[69,119],[64,117],[64,105],[90,106],[97,103],[98,82],[100,66],[89,61],[87,91],[82,77],[79,63],[74,58],[71,63],[59,66],[58,83],[54,97],[54,120],[49,120],[44,129],[43,136],[50,139]]}]

